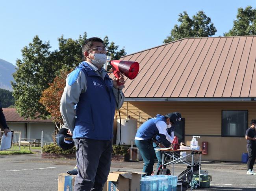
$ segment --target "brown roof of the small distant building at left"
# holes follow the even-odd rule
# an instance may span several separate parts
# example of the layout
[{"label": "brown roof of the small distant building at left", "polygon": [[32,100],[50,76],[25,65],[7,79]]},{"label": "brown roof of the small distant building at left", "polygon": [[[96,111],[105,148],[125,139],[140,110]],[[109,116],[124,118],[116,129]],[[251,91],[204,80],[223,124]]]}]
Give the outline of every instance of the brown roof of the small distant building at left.
[{"label": "brown roof of the small distant building at left", "polygon": [[6,117],[7,122],[52,122],[52,119],[24,119],[20,117],[15,108],[3,108],[4,116]]}]

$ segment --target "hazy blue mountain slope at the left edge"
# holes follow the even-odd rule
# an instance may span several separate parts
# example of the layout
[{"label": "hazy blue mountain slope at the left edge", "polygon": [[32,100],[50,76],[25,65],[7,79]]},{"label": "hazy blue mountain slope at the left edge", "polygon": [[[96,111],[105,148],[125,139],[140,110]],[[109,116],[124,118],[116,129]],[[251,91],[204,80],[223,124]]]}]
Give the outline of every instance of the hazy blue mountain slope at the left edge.
[{"label": "hazy blue mountain slope at the left edge", "polygon": [[3,59],[0,59],[0,88],[13,91],[11,87],[11,81],[13,80],[13,73],[15,72],[15,66]]}]

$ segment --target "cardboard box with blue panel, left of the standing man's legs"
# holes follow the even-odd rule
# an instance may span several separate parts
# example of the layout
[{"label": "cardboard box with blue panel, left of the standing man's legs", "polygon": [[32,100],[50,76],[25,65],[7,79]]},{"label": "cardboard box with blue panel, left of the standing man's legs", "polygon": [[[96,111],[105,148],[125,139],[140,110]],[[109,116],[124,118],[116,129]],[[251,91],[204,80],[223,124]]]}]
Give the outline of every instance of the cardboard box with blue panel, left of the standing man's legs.
[{"label": "cardboard box with blue panel, left of the standing man's legs", "polygon": [[59,174],[58,191],[74,191],[75,175]]}]

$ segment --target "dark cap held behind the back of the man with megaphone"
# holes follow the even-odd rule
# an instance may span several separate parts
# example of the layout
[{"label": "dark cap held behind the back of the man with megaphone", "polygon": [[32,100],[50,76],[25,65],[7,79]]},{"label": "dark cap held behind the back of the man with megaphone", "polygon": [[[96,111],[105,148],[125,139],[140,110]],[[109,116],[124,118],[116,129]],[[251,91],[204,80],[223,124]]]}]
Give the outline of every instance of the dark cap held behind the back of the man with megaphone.
[{"label": "dark cap held behind the back of the man with megaphone", "polygon": [[75,145],[72,136],[68,135],[67,128],[61,128],[59,130],[59,133],[56,135],[56,142],[64,150],[69,150]]}]

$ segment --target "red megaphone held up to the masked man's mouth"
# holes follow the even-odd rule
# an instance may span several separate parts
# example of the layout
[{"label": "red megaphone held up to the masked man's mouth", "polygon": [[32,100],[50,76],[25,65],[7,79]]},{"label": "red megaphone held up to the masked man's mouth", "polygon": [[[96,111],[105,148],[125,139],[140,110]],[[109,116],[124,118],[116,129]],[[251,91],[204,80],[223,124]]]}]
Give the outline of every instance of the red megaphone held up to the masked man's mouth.
[{"label": "red megaphone held up to the masked man's mouth", "polygon": [[[112,66],[112,70],[116,78],[119,78],[120,73],[122,73],[124,76],[132,80],[139,72],[139,63],[134,61],[110,60],[109,63]],[[122,85],[120,82],[117,82],[117,84]]]}]

